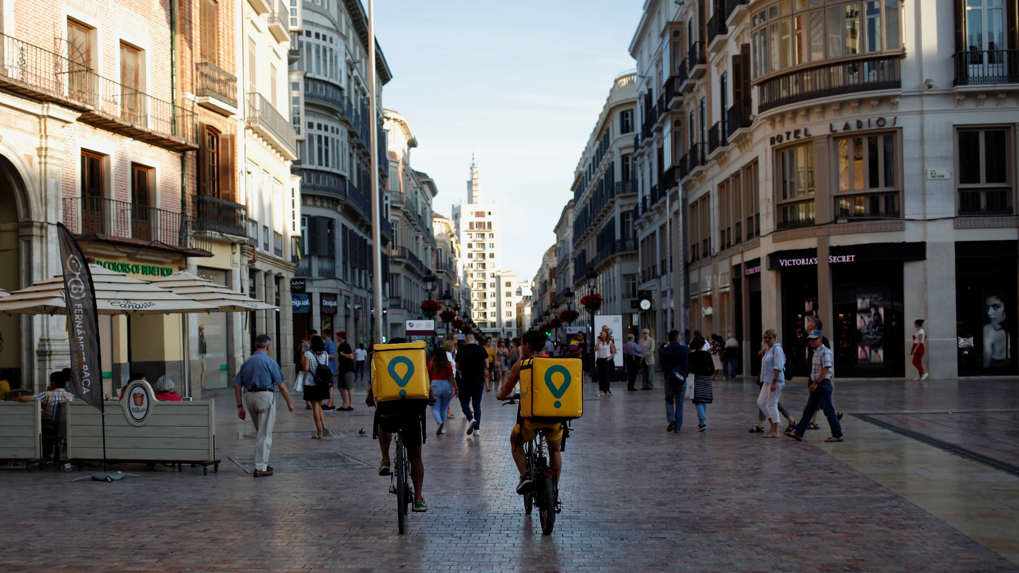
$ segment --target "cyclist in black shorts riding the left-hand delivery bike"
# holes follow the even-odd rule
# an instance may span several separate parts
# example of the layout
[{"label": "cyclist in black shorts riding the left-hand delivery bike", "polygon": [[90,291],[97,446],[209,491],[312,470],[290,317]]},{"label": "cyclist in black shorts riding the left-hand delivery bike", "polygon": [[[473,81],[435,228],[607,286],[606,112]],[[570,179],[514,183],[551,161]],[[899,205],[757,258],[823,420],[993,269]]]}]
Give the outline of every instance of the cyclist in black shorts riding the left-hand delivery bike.
[{"label": "cyclist in black shorts riding the left-hand delivery bike", "polygon": [[[394,338],[389,344],[403,344],[406,338]],[[372,380],[375,380],[375,363],[372,362]],[[411,481],[414,482],[414,511],[428,511],[428,505],[421,495],[425,481],[425,464],[421,460],[421,445],[424,443],[425,405],[423,400],[389,400],[375,402],[373,388],[368,388],[365,403],[375,406],[375,435],[382,449],[382,463],[379,465],[379,475],[389,475],[389,445],[392,435],[404,432],[404,446],[407,448],[407,458],[411,462]],[[435,396],[428,391],[428,405],[435,404]],[[373,436],[375,438],[376,436]]]}]

